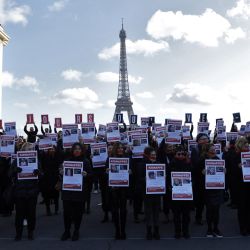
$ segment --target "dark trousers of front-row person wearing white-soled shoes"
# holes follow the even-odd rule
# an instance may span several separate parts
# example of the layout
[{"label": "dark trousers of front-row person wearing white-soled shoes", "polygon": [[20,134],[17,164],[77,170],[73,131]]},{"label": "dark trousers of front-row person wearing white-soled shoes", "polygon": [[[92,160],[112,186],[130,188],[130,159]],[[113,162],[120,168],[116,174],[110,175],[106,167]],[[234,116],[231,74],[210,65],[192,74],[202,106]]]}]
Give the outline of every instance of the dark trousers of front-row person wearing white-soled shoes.
[{"label": "dark trousers of front-row person wearing white-soled shoes", "polygon": [[206,205],[206,219],[209,231],[218,229],[220,220],[220,205]]}]

